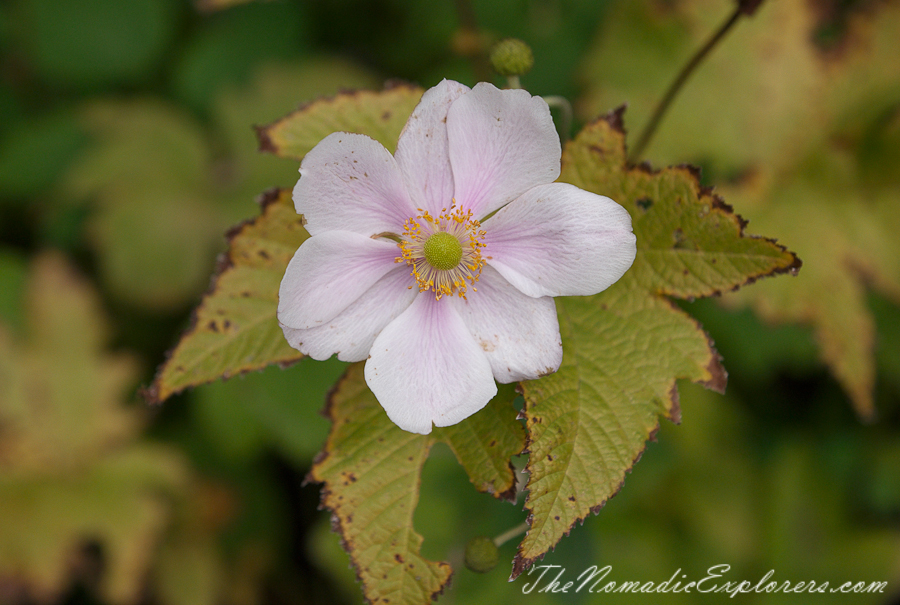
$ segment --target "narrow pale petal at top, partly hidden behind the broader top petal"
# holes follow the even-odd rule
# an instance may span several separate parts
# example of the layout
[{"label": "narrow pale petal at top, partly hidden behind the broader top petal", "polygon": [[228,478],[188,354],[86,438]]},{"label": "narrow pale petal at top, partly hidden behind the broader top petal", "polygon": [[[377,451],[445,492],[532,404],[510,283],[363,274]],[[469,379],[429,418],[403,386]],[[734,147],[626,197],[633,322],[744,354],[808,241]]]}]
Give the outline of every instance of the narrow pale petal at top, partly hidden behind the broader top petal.
[{"label": "narrow pale petal at top, partly hidden behind the broader top petal", "polygon": [[447,110],[469,87],[444,80],[422,95],[397,143],[394,157],[410,195],[432,216],[449,208],[453,199],[453,173],[447,145]]}]

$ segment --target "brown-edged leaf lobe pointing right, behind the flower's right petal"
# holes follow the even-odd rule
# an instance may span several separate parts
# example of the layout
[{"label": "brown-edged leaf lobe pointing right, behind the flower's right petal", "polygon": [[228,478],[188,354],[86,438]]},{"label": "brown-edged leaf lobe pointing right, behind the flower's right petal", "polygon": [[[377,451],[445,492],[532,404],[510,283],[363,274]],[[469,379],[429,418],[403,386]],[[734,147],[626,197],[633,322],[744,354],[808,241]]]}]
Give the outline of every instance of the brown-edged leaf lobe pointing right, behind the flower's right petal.
[{"label": "brown-edged leaf lobe pointing right, behind the flower's right petal", "polygon": [[566,147],[560,180],[628,209],[638,241],[628,275],[636,287],[679,298],[711,296],[799,267],[772,240],[745,237],[745,221],[700,187],[695,169],[627,169],[621,119],[620,110],[585,128]]}]

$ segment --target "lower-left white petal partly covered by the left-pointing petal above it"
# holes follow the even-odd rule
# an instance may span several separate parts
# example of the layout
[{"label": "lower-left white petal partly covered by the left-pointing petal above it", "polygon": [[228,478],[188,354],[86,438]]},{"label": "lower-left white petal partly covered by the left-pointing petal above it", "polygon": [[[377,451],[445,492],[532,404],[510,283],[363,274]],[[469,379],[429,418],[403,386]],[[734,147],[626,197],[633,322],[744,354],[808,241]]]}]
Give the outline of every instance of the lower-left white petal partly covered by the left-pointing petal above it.
[{"label": "lower-left white petal partly covered by the left-pointing petal above it", "polygon": [[341,361],[362,361],[368,357],[378,334],[406,310],[418,293],[409,267],[403,265],[319,327],[297,330],[282,324],[281,328],[292,347],[313,359],[328,359],[337,353]]}]

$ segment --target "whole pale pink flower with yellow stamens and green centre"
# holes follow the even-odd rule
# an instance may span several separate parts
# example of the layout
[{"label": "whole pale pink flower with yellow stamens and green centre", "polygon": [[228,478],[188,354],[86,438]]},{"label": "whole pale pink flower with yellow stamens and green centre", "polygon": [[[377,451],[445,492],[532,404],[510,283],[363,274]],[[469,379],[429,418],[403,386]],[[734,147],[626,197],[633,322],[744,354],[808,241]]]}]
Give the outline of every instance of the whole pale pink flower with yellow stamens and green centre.
[{"label": "whole pale pink flower with yellow stamens and green centre", "polygon": [[604,290],[631,266],[631,217],[565,183],[543,99],[443,81],[394,156],[338,132],[294,188],[310,238],[281,282],[278,320],[314,359],[367,359],[390,419],[428,434],[508,383],[562,361],[554,296]]}]

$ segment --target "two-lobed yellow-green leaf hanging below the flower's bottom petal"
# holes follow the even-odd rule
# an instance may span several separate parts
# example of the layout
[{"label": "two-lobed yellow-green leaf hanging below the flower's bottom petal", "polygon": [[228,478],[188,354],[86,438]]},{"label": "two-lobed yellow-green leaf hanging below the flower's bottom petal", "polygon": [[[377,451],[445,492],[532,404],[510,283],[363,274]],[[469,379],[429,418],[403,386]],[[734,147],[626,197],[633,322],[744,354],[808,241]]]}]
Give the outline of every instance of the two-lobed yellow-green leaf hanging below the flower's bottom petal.
[{"label": "two-lobed yellow-green leaf hanging below the flower's bottom petal", "polygon": [[[418,435],[390,421],[366,386],[363,367],[350,366],[332,395],[327,408],[331,434],[309,479],[325,484],[322,502],[334,513],[335,529],[366,599],[428,603],[443,592],[451,569],[419,554],[422,536],[413,528],[413,513],[422,466],[431,446],[445,441],[476,487],[497,497],[514,493],[509,460],[522,447],[522,428],[511,405],[514,393],[504,388],[482,413]],[[504,427],[500,431],[498,424]]]}]

